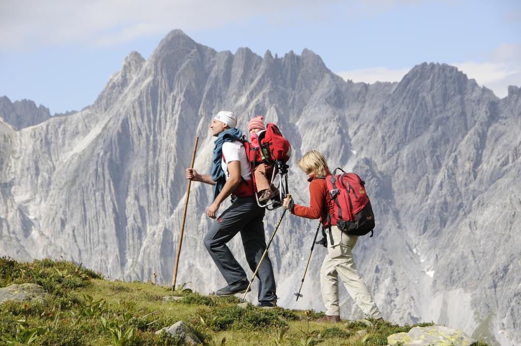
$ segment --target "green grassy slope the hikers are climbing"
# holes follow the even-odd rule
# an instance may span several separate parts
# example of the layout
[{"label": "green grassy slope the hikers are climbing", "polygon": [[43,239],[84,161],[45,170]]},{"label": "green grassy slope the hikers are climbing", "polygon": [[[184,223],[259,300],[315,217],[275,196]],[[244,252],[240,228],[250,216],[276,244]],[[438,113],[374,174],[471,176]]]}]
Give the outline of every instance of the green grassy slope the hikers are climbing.
[{"label": "green grassy slope the hikers are climbing", "polygon": [[[162,303],[170,289],[142,282],[107,281],[65,261],[18,263],[0,257],[0,287],[33,282],[49,293],[43,302],[0,305],[0,344],[176,345],[155,331],[183,320],[208,345],[386,345],[388,335],[412,326],[375,323],[319,324],[322,314],[283,308],[237,306],[235,297],[178,289],[177,302]],[[345,321],[348,323],[348,321]],[[430,325],[430,324],[423,324]],[[366,329],[365,335],[358,335]],[[485,343],[479,343],[486,345]]]}]

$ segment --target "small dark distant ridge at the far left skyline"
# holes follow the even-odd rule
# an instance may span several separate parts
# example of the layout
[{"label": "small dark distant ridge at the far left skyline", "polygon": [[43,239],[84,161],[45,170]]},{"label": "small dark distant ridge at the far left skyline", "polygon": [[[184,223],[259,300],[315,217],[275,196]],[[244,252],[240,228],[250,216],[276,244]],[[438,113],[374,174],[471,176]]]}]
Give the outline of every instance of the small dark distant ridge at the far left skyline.
[{"label": "small dark distant ridge at the far left skyline", "polygon": [[0,97],[0,117],[16,129],[37,125],[51,118],[49,108],[36,107],[34,101],[21,100],[11,103],[7,96]]}]

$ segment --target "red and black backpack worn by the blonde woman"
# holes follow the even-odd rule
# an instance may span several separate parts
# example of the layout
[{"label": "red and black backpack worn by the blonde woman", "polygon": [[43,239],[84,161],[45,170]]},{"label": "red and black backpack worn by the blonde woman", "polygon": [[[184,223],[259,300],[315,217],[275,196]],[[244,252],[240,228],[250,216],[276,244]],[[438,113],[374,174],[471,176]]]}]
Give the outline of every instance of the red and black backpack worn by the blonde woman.
[{"label": "red and black backpack worn by the blonde woman", "polygon": [[[337,169],[343,174],[336,175]],[[341,168],[326,177],[333,205],[333,215],[327,217],[325,227],[336,225],[342,232],[352,236],[365,236],[375,228],[375,214],[365,190],[365,181],[354,173]]]}]

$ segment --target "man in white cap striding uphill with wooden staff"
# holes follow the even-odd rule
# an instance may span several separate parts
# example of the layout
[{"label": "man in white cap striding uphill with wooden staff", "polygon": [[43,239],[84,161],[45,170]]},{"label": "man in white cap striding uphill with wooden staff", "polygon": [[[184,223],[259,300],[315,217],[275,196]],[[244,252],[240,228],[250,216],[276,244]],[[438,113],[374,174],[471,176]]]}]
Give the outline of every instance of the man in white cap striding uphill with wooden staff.
[{"label": "man in white cap striding uphill with wooden staff", "polygon": [[[207,215],[216,219],[220,204],[232,196],[232,204],[217,217],[204,237],[204,244],[219,268],[228,286],[216,291],[217,295],[244,293],[249,281],[241,265],[226,246],[237,233],[241,233],[242,244],[248,265],[255,271],[266,249],[264,235],[265,209],[259,207],[253,196],[253,180],[250,161],[246,156],[237,117],[221,110],[214,117],[210,129],[215,140],[211,175],[199,174],[187,169],[187,179],[214,185],[214,202],[208,207]],[[258,301],[261,306],[277,304],[275,277],[269,256],[266,255],[258,270]]]}]

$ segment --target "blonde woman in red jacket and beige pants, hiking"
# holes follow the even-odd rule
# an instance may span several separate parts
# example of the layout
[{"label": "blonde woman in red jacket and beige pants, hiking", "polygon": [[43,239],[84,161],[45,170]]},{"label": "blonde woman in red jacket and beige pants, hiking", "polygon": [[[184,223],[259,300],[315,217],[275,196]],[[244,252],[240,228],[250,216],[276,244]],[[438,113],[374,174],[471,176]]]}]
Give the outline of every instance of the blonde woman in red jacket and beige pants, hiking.
[{"label": "blonde woman in red jacket and beige pants, hiking", "polygon": [[[283,206],[292,214],[309,219],[320,218],[322,225],[327,215],[333,214],[333,204],[329,194],[326,177],[331,176],[326,158],[320,152],[307,152],[300,160],[299,167],[308,175],[309,206],[294,204],[292,199],[284,199]],[[340,322],[338,278],[342,280],[349,295],[370,318],[383,320],[376,303],[358,274],[353,260],[353,248],[358,240],[342,232],[336,225],[326,232],[328,253],[320,268],[320,291],[326,315],[318,322]]]}]

